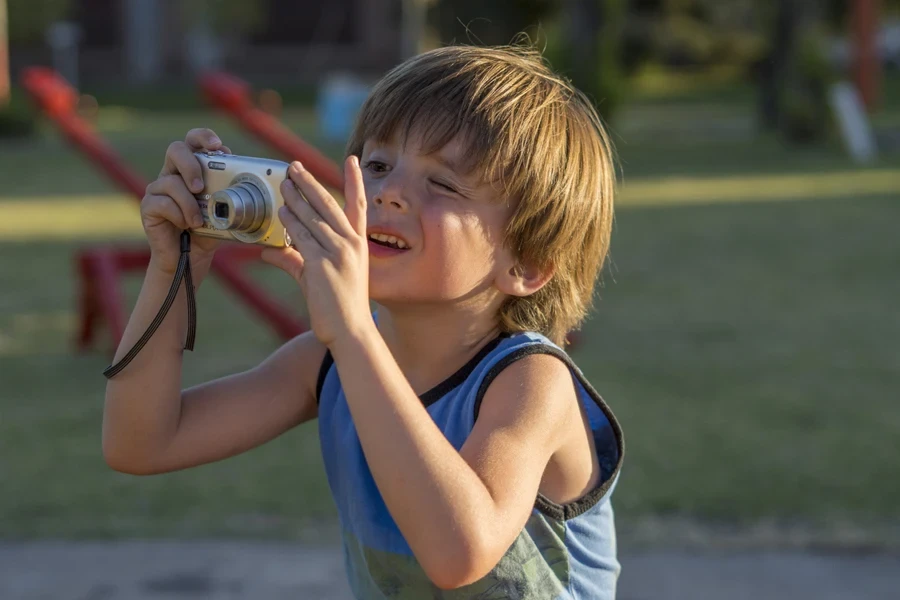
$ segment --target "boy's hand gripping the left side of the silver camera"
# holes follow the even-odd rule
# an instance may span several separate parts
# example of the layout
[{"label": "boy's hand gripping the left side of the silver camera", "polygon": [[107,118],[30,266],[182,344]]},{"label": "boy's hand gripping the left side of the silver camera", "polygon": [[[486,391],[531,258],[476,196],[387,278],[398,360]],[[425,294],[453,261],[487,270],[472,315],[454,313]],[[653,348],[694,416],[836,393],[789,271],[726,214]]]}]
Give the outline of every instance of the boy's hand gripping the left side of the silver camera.
[{"label": "boy's hand gripping the left side of the silver camera", "polygon": [[[150,242],[151,264],[175,273],[181,255],[181,232],[203,223],[194,194],[203,191],[200,162],[194,152],[231,153],[211,129],[192,129],[183,142],[172,142],[159,178],[147,186],[141,200],[141,223]],[[191,236],[191,262],[211,261],[219,245],[216,238]]]}]

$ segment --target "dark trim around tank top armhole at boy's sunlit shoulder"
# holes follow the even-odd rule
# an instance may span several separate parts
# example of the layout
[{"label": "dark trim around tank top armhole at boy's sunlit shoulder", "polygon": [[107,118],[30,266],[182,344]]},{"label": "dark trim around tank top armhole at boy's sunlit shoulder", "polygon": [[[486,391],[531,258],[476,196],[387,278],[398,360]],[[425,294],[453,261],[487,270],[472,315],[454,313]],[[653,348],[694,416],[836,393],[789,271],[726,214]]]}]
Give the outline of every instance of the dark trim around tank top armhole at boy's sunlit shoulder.
[{"label": "dark trim around tank top armhole at boy's sunlit shoulder", "polygon": [[513,350],[502,359],[497,361],[497,364],[491,367],[491,370],[485,374],[484,379],[481,380],[481,385],[479,386],[478,392],[475,396],[474,420],[478,420],[478,412],[481,410],[481,401],[484,399],[484,394],[485,392],[487,392],[487,389],[491,385],[491,382],[494,380],[494,378],[496,378],[503,369],[505,369],[512,363],[532,354],[549,354],[563,361],[563,363],[565,363],[565,365],[569,367],[569,370],[575,374],[578,382],[581,383],[582,386],[584,386],[585,391],[587,391],[591,399],[597,403],[597,406],[600,408],[600,410],[603,411],[603,414],[606,415],[606,418],[609,420],[610,426],[613,428],[613,433],[616,436],[616,448],[619,452],[619,457],[616,461],[616,467],[613,472],[609,474],[609,477],[603,478],[604,474],[600,474],[602,480],[602,483],[600,485],[589,491],[578,500],[566,504],[557,504],[556,502],[553,502],[552,500],[538,492],[537,498],[534,502],[534,507],[552,519],[556,519],[557,521],[567,521],[569,519],[574,519],[578,515],[581,515],[596,506],[597,503],[600,502],[600,500],[602,500],[604,496],[606,496],[606,493],[609,492],[610,487],[612,487],[612,484],[613,482],[615,482],[616,477],[618,476],[619,471],[622,467],[622,459],[625,455],[625,442],[622,437],[622,428],[619,426],[619,422],[616,420],[615,415],[613,415],[612,410],[609,408],[609,406],[607,406],[603,398],[600,397],[600,394],[597,393],[597,390],[595,390],[590,382],[585,379],[584,374],[582,374],[581,372],[581,369],[579,369],[578,366],[575,365],[574,362],[572,362],[572,358],[562,350],[540,342],[529,344],[527,346],[523,346],[521,348]]}]

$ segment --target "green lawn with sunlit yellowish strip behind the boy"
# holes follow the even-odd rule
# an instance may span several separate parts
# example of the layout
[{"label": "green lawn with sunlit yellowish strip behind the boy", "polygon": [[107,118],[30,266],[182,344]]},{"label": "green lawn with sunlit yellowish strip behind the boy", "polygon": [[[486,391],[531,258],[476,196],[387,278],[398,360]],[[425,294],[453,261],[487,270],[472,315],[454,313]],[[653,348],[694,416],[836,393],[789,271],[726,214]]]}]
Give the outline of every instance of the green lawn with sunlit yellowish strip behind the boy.
[{"label": "green lawn with sunlit yellowish strip behind the boy", "polygon": [[[647,105],[615,128],[624,184],[612,260],[573,356],[626,432],[623,541],[642,523],[686,519],[799,523],[837,541],[850,528],[897,544],[896,156],[860,168],[831,145],[785,148],[748,134],[744,112]],[[309,113],[286,121],[315,139]],[[208,113],[109,109],[98,123],[147,177],[194,126],[270,155]],[[72,256],[140,243],[136,205],[52,131],[0,143],[0,181],[0,538],[294,538],[331,521],[314,424],[183,473],[137,478],[104,465],[108,346],[72,351]],[[286,276],[252,273],[302,305]],[[138,285],[129,279],[129,306]],[[185,384],[277,347],[214,281],[198,302]]]}]

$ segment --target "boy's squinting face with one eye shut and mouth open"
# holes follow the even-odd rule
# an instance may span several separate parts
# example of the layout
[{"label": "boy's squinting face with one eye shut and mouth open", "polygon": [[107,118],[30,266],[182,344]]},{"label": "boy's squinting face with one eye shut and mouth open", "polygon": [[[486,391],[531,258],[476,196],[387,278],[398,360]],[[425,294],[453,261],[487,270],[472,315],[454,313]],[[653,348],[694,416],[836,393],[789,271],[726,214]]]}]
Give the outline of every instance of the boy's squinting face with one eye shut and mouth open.
[{"label": "boy's squinting face with one eye shut and mouth open", "polygon": [[463,158],[458,140],[431,155],[413,137],[405,147],[364,145],[369,295],[379,304],[502,298],[497,278],[515,265],[502,243],[512,207],[476,174],[462,172]]}]

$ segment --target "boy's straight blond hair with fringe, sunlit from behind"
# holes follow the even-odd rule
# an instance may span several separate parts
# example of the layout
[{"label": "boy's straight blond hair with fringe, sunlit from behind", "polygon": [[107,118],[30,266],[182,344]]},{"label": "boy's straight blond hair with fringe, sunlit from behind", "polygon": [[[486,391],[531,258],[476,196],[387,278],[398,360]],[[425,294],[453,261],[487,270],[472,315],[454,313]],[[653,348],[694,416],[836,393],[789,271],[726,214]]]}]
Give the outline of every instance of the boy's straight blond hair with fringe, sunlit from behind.
[{"label": "boy's straight blond hair with fringe, sunlit from behind", "polygon": [[449,46],[413,57],[376,84],[347,145],[421,136],[425,152],[460,136],[467,169],[512,199],[504,243],[552,268],[538,292],[509,297],[500,328],[557,344],[591,308],[609,251],[615,166],[591,102],[528,47]]}]

